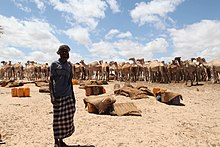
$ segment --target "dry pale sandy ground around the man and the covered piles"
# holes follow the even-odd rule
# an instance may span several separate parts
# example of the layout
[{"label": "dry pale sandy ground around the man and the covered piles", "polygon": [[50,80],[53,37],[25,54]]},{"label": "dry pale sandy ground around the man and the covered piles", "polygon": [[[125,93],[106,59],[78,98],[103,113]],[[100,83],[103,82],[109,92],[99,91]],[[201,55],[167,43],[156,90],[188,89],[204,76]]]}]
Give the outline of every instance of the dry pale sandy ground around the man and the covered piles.
[{"label": "dry pale sandy ground around the man and the covered piles", "polygon": [[[107,94],[113,94],[115,83],[104,85]],[[117,102],[134,102],[142,116],[96,115],[84,109],[85,90],[74,85],[76,131],[65,142],[84,147],[220,146],[220,84],[142,84],[182,94],[185,106],[166,105],[154,97],[115,96]],[[11,97],[11,88],[0,87],[0,134],[6,143],[0,147],[52,147],[49,94],[39,93],[34,84],[25,86],[31,88],[31,97]]]}]

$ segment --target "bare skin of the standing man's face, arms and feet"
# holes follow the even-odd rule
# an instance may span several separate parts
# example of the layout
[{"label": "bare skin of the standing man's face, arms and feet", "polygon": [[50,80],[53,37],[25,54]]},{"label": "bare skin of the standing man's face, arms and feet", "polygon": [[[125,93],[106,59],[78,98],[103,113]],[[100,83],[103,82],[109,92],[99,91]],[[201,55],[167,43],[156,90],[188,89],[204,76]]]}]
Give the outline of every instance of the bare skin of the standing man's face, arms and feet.
[{"label": "bare skin of the standing man's face, arms and feet", "polygon": [[[60,55],[60,61],[61,62],[67,62],[67,60],[69,59],[69,50],[67,49],[62,49],[59,51],[59,55]],[[52,89],[52,81],[53,81],[53,77],[50,76],[50,83],[49,83],[49,88]],[[72,87],[73,89],[73,87]],[[55,98],[53,97],[53,93],[52,93],[52,90],[51,91],[51,103],[53,105],[56,105],[57,102],[55,100]],[[72,91],[72,95],[73,95],[73,91]],[[60,146],[66,146],[66,144],[63,142],[63,139],[54,139],[55,140],[55,144],[57,144],[59,147]]]}]

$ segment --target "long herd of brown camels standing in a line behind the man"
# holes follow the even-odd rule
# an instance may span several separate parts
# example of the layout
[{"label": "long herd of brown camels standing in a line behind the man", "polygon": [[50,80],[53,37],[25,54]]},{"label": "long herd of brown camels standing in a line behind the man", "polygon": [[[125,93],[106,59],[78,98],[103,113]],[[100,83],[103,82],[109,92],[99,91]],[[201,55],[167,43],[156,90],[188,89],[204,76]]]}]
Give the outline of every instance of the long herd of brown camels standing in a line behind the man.
[{"label": "long herd of brown camels standing in a line behind the man", "polygon": [[[86,64],[84,60],[72,64],[73,78],[78,80],[119,80],[119,81],[149,81],[159,83],[190,81],[191,85],[200,81],[220,81],[220,59],[206,62],[204,58],[181,60],[175,57],[171,62],[144,61],[130,58],[130,62],[94,61]],[[12,64],[10,61],[1,62],[0,80],[27,79],[30,81],[49,78],[49,65],[27,61]]]}]

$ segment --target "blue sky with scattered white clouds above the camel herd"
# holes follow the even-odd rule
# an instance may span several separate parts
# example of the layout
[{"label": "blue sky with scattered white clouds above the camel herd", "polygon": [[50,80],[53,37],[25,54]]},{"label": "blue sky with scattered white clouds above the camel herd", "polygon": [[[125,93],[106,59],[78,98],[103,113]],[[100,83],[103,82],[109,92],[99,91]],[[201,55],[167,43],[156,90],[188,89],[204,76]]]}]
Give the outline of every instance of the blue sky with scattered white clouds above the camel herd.
[{"label": "blue sky with scattered white clouds above the camel herd", "polygon": [[1,0],[0,61],[220,57],[220,0]]}]

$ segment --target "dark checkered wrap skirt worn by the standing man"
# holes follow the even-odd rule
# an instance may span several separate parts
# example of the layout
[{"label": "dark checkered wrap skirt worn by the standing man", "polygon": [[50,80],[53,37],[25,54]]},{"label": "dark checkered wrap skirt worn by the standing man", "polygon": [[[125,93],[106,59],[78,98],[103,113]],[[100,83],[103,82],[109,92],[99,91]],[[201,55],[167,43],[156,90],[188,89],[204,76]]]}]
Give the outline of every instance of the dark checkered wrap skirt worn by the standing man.
[{"label": "dark checkered wrap skirt worn by the standing man", "polygon": [[53,105],[53,132],[55,139],[69,137],[75,131],[73,120],[75,104],[73,98],[72,96],[56,98],[57,104]]}]

